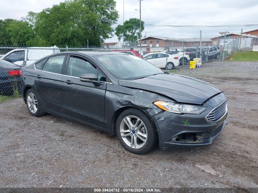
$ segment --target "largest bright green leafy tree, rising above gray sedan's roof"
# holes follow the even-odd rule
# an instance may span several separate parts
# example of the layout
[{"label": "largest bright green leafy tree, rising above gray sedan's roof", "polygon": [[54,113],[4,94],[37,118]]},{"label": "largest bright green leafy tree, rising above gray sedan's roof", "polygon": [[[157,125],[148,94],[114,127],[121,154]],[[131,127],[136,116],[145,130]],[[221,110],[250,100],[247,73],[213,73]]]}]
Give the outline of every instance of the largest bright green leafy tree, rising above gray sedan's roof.
[{"label": "largest bright green leafy tree, rising above gray sedan's roof", "polygon": [[114,0],[74,0],[61,2],[38,13],[36,41],[42,46],[100,45],[112,37],[112,25],[118,19]]}]

